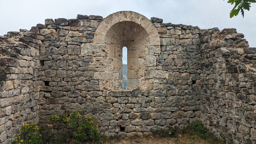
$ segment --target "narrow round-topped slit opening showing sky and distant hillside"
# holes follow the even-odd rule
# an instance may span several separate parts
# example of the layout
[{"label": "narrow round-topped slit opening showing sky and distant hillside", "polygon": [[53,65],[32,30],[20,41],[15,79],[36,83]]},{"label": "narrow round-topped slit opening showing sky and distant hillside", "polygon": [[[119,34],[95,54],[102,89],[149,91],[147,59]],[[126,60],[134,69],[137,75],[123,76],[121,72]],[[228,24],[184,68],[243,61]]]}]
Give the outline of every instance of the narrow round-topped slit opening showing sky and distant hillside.
[{"label": "narrow round-topped slit opening showing sky and distant hillside", "polygon": [[127,90],[127,47],[123,47],[122,89]]}]

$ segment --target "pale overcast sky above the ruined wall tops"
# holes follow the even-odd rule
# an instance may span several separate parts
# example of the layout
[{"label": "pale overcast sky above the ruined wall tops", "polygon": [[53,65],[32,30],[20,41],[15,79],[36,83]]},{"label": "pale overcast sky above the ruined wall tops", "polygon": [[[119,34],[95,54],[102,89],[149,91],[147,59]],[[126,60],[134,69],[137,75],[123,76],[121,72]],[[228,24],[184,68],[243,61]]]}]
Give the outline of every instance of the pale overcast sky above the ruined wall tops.
[{"label": "pale overcast sky above the ruined wall tops", "polygon": [[256,47],[256,4],[245,10],[244,18],[229,18],[233,8],[228,0],[0,0],[0,35],[8,31],[30,29],[48,18],[75,19],[77,14],[103,18],[118,11],[138,12],[148,19],[158,17],[164,23],[186,24],[199,28],[236,28],[250,47]]}]

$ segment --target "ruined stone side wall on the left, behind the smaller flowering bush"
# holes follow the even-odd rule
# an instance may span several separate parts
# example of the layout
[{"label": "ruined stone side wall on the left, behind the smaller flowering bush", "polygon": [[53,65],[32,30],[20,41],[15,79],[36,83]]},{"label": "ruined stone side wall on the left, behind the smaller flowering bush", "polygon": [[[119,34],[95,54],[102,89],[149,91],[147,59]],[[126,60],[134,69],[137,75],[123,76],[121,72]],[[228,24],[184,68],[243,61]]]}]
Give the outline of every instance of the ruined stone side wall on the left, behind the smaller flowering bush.
[{"label": "ruined stone side wall on the left, behind the smaller flowering bush", "polygon": [[0,37],[0,143],[11,143],[20,124],[38,122],[36,39],[41,38],[22,29]]}]

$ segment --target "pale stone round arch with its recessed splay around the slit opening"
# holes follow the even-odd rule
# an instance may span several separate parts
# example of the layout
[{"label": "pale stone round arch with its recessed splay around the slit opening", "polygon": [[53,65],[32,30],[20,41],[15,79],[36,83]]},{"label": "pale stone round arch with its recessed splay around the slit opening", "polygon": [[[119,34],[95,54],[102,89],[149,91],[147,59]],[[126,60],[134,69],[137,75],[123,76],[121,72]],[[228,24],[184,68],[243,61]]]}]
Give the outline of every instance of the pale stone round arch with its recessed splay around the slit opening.
[{"label": "pale stone round arch with its recessed splay around the slit opening", "polygon": [[119,68],[119,74],[122,74],[122,48],[126,46],[127,88],[144,89],[148,83],[144,76],[147,67],[156,66],[156,54],[160,54],[160,37],[148,18],[132,11],[110,14],[96,29],[93,43],[108,46],[112,67]]}]

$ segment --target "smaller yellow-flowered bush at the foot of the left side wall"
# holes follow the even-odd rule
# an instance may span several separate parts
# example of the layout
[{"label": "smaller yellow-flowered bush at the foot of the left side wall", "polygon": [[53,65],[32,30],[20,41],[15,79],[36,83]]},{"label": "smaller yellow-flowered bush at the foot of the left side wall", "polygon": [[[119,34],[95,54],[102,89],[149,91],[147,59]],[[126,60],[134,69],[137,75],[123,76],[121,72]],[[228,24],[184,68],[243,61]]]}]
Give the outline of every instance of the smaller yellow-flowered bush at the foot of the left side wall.
[{"label": "smaller yellow-flowered bush at the foot of the left side wall", "polygon": [[21,133],[12,140],[12,144],[43,144],[42,135],[39,134],[37,124],[21,126]]}]

